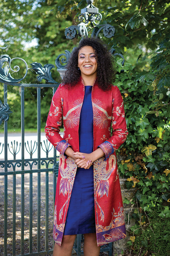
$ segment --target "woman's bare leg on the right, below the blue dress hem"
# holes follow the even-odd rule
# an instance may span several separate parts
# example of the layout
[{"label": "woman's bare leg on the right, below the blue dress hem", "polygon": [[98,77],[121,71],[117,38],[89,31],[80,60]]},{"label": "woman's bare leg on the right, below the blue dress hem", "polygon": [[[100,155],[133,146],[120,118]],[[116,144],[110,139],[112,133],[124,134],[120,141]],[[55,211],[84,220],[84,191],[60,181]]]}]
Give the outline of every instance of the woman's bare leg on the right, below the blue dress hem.
[{"label": "woman's bare leg on the right, below the blue dress hem", "polygon": [[84,234],[84,256],[99,256],[100,246],[97,246],[96,233]]}]

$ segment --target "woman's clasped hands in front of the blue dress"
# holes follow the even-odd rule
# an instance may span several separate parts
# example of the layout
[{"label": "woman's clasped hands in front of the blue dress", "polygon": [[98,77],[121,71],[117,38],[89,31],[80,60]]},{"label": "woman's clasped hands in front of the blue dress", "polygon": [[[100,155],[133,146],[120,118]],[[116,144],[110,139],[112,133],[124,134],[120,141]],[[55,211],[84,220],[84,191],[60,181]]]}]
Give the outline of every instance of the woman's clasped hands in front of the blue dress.
[{"label": "woman's clasped hands in front of the blue dress", "polygon": [[81,153],[81,152],[74,152],[74,160],[77,167],[81,167],[84,169],[89,169],[92,166],[92,156],[91,154]]}]

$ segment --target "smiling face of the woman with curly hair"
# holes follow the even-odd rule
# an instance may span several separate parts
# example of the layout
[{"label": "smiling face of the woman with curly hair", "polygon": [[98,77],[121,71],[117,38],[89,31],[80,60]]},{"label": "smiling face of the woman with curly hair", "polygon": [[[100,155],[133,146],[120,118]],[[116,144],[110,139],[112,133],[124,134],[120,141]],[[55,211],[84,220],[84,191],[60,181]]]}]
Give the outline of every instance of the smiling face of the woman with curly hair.
[{"label": "smiling face of the woman with curly hair", "polygon": [[91,46],[84,46],[78,53],[78,67],[81,71],[81,77],[84,79],[97,77],[97,61],[94,49]]}]

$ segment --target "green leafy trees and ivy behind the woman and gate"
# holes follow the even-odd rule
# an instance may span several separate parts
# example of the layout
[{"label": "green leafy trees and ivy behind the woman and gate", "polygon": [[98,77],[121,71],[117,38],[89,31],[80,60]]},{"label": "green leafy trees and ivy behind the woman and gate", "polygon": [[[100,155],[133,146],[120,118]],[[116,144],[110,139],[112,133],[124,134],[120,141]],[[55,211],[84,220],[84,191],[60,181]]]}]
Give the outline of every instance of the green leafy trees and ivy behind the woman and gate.
[{"label": "green leafy trees and ivy behind the woman and gate", "polygon": [[[130,218],[136,224],[128,229],[129,255],[170,255],[170,3],[158,0],[95,0],[102,13],[100,24],[115,26],[113,38],[100,37],[110,48],[125,57],[116,58],[115,85],[124,98],[129,136],[120,148],[120,175],[126,187],[135,188]],[[86,1],[16,0],[0,3],[2,54],[24,58],[28,64],[55,63],[64,50],[72,50],[80,38],[66,40],[64,30],[78,23],[78,14]],[[89,27],[89,34],[92,28]],[[24,56],[24,57],[23,57]],[[31,67],[31,66],[30,66]],[[21,73],[24,67],[21,64]],[[20,74],[12,76],[21,77]],[[52,70],[59,81],[59,74]],[[29,70],[23,82],[36,83]],[[42,86],[43,87],[43,86]],[[13,111],[9,128],[20,128],[20,89],[8,86],[8,104]],[[52,91],[41,90],[41,126],[45,126]],[[3,85],[0,88],[3,99]],[[31,106],[31,108],[30,108]],[[36,127],[36,89],[26,89],[25,125]],[[1,129],[2,129],[1,125]],[[124,252],[125,253],[125,252]]]}]

